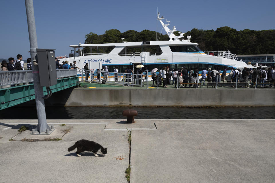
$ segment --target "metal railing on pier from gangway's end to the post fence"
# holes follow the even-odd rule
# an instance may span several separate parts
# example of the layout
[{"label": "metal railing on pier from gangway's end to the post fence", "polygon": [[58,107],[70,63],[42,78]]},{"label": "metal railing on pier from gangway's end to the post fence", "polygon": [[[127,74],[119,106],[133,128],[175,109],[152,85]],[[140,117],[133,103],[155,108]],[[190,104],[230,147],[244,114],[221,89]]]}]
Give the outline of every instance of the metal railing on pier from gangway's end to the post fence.
[{"label": "metal railing on pier from gangway's end to the post fence", "polygon": [[119,72],[105,72],[99,70],[78,70],[78,76],[80,81],[89,83],[112,83],[128,86],[140,86],[144,85],[144,74],[128,74]]}]

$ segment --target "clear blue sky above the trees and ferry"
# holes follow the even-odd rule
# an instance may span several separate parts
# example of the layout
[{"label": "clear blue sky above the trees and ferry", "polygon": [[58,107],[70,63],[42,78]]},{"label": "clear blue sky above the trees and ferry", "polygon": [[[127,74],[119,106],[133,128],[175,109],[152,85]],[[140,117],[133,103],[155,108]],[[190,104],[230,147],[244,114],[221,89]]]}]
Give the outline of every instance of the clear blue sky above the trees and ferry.
[{"label": "clear blue sky above the trees and ferry", "polygon": [[[274,0],[34,0],[38,47],[56,49],[56,56],[64,56],[70,52],[69,45],[84,43],[85,34],[90,32],[100,35],[109,29],[121,33],[131,29],[156,31],[157,7],[171,21],[170,29],[176,25],[183,32],[194,27],[216,30],[222,26],[237,30],[275,29]],[[0,10],[0,58],[21,54],[27,59],[30,43],[25,1],[2,0]],[[160,26],[158,23],[159,31]]]}]

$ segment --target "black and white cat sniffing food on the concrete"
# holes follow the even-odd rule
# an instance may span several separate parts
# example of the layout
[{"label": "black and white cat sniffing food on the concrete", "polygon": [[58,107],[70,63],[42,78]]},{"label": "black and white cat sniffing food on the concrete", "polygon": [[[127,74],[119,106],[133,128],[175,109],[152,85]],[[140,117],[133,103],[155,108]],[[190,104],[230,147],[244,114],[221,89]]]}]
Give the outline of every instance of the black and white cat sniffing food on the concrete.
[{"label": "black and white cat sniffing food on the concrete", "polygon": [[68,148],[68,151],[72,151],[77,148],[76,155],[81,156],[80,153],[84,151],[90,151],[98,157],[97,152],[100,150],[102,154],[107,154],[107,148],[103,148],[100,144],[89,140],[78,140],[76,143]]}]

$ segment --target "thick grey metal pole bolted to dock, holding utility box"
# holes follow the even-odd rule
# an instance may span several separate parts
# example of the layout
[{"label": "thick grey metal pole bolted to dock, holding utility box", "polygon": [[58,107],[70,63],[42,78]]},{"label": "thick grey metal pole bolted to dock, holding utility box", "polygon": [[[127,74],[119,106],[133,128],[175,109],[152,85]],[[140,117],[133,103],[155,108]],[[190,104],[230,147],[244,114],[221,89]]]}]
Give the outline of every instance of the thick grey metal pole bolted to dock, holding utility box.
[{"label": "thick grey metal pole bolted to dock, holding utility box", "polygon": [[[38,48],[37,37],[36,37],[36,26],[34,19],[34,3],[32,0],[25,0],[26,13],[27,13],[27,21],[28,21],[28,30],[29,30],[29,38],[30,38],[30,55],[32,60],[32,74],[34,78],[34,93],[35,93],[35,103],[36,103],[36,112],[38,125],[35,130],[42,134],[46,132],[46,129],[52,131],[52,129],[48,126],[46,122],[46,112],[45,112],[45,103],[43,94],[43,87],[40,85],[40,77],[38,64],[36,63],[36,48]],[[44,134],[44,133],[43,133]]]}]

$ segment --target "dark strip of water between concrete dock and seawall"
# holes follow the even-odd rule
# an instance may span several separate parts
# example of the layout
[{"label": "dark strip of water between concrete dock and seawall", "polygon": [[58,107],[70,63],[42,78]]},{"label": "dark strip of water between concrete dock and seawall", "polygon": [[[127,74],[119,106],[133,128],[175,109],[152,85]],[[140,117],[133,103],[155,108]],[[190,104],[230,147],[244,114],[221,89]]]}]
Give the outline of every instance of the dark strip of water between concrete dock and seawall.
[{"label": "dark strip of water between concrete dock and seawall", "polygon": [[[274,119],[275,107],[46,107],[47,119],[125,119],[122,111],[137,110],[135,119]],[[0,119],[37,119],[35,107],[0,110]]]}]

